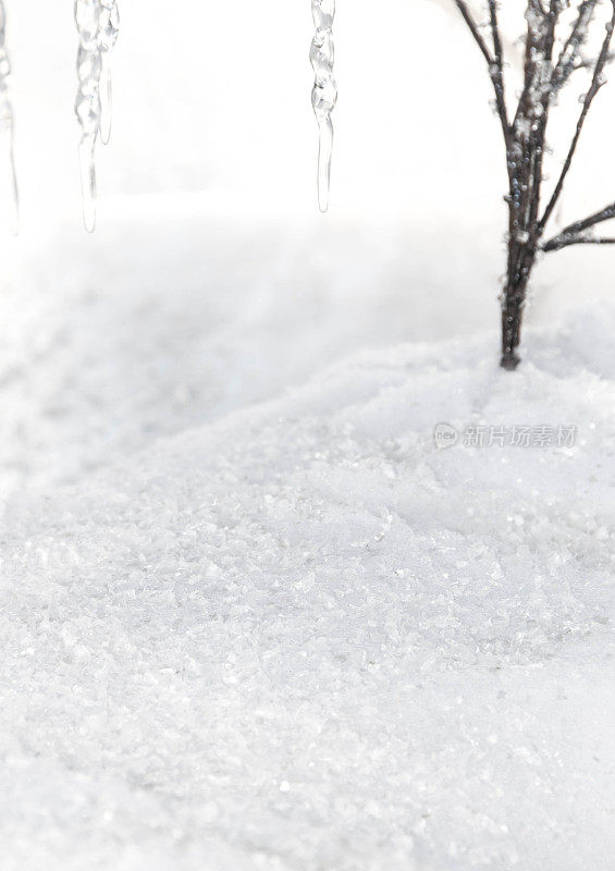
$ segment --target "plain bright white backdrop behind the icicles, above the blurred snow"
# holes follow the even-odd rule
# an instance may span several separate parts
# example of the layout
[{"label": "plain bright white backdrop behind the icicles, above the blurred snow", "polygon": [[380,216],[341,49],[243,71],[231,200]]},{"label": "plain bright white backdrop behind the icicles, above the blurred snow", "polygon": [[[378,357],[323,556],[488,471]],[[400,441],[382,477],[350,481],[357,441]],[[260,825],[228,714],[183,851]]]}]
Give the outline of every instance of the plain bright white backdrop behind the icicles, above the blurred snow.
[{"label": "plain bright white backdrop behind the icicles, above the blurred snow", "polygon": [[[447,0],[337,3],[334,217],[503,219],[489,84],[452,8]],[[24,220],[50,207],[73,214],[72,3],[7,0],[7,12]],[[307,0],[132,0],[121,13],[101,195],[222,189],[309,213],[316,134]],[[614,116],[615,94],[605,90],[570,177],[570,209],[577,199],[594,209],[615,198]]]}]

